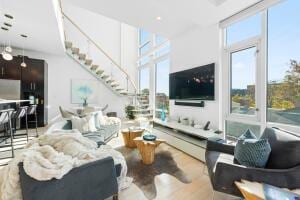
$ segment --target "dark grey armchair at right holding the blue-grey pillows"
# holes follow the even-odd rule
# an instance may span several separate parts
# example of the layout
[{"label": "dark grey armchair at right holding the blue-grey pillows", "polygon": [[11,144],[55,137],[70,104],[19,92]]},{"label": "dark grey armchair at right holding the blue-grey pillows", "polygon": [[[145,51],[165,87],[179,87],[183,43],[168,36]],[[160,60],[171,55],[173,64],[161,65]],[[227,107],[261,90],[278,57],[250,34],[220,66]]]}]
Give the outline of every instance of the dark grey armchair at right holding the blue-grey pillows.
[{"label": "dark grey armchair at right holding the blue-grey pillows", "polygon": [[214,190],[242,197],[234,184],[241,179],[280,188],[300,188],[299,136],[277,128],[266,128],[262,138],[268,139],[272,149],[266,168],[239,165],[234,160],[234,146],[207,142],[205,159]]}]

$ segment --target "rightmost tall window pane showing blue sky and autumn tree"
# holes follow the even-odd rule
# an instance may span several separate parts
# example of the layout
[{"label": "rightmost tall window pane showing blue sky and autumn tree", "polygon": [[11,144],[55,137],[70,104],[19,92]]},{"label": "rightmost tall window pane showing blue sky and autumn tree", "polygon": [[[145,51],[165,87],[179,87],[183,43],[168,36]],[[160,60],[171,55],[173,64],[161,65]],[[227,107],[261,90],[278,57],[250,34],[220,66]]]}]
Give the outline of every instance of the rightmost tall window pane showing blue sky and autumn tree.
[{"label": "rightmost tall window pane showing blue sky and autumn tree", "polygon": [[300,1],[268,10],[267,120],[300,125]]}]

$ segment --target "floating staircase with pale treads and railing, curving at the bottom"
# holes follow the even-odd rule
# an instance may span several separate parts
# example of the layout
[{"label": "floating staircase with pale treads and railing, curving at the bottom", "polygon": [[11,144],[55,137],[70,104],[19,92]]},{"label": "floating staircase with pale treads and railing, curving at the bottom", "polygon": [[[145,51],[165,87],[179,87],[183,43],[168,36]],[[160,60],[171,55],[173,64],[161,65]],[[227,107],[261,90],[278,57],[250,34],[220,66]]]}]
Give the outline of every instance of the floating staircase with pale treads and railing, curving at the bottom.
[{"label": "floating staircase with pale treads and railing, curving at the bottom", "polygon": [[[70,17],[68,17],[62,11],[65,24],[68,23],[71,29],[74,29],[73,34],[78,36],[81,34],[81,41],[77,41],[77,37],[67,37],[65,32],[65,48],[67,55],[76,61],[82,68],[89,72],[92,76],[101,81],[107,88],[118,96],[127,96],[131,98],[132,105],[134,106],[134,114],[137,118],[147,118],[148,120],[153,119],[153,109],[150,107],[149,95],[148,94],[137,94],[137,88],[128,75],[128,73],[114,61],[107,52],[105,52],[97,43],[92,40]],[[85,41],[85,42],[83,42]],[[87,43],[86,43],[87,42]],[[88,46],[88,50],[84,48],[85,44]],[[95,51],[102,55],[102,58],[106,59],[106,64],[111,63],[111,66],[102,68],[101,64],[97,63],[96,58],[91,58],[89,52],[89,45],[93,45]],[[93,52],[93,55],[97,55]],[[102,61],[98,61],[102,62]],[[112,74],[112,71],[115,74]],[[110,75],[109,75],[110,74]],[[118,77],[116,80],[114,77]],[[131,86],[131,87],[130,87]]]}]

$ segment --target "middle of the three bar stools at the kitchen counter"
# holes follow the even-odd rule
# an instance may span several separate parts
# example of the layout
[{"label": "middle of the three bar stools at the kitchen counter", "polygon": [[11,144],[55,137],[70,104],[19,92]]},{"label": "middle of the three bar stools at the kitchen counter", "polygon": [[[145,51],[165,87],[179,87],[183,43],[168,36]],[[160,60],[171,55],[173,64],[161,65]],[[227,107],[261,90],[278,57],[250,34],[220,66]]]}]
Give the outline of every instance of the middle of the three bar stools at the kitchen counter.
[{"label": "middle of the three bar stools at the kitchen counter", "polygon": [[[13,123],[13,137],[15,136],[22,136],[22,135],[26,135],[26,138],[27,138],[27,142],[28,142],[28,121],[27,121],[27,109],[28,109],[28,106],[21,106],[19,107],[16,111],[14,111],[12,113],[12,116],[11,116],[11,120],[12,120],[12,123]],[[26,125],[26,132],[25,133],[19,133],[19,134],[16,134],[17,132],[17,120],[21,119],[25,117],[25,125]]]}]

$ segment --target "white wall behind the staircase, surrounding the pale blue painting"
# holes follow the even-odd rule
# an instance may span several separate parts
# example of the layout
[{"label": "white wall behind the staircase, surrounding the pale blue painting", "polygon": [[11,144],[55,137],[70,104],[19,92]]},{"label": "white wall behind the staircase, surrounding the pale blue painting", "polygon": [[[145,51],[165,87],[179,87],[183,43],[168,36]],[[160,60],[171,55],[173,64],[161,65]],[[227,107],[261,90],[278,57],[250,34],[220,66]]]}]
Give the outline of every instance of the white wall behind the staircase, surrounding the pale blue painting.
[{"label": "white wall behind the staircase, surrounding the pale blue painting", "polygon": [[[122,24],[118,21],[107,17],[90,13],[86,10],[76,7],[70,7],[68,14],[80,25],[80,27],[89,34],[90,37],[101,44],[102,48],[109,53],[122,66],[126,67],[131,77],[136,77],[136,60],[137,60],[137,29]],[[66,32],[70,31],[68,26]],[[71,27],[72,28],[72,27]],[[86,40],[79,34],[78,30],[71,35],[75,44],[78,44],[82,51],[87,49]],[[70,35],[69,35],[70,38]],[[105,68],[110,75],[111,65],[105,60],[99,58],[99,52],[90,49],[91,58],[95,64]],[[71,81],[72,79],[97,80],[89,72],[83,69],[78,63],[71,59],[67,54],[57,52],[60,55],[53,55],[36,51],[25,51],[25,56],[31,58],[43,59],[48,63],[48,120],[49,123],[59,117],[58,107],[74,108],[78,105],[71,103]],[[15,55],[21,55],[22,52],[14,50]],[[92,56],[95,56],[94,57]],[[103,61],[103,62],[102,62]],[[117,75],[115,78],[118,80]],[[124,76],[125,78],[125,76]],[[123,84],[122,87],[126,85]],[[120,97],[108,89],[102,82],[98,81],[98,106],[109,105],[107,112],[115,111],[118,116],[124,117],[124,107],[129,102],[127,97]]]}]

